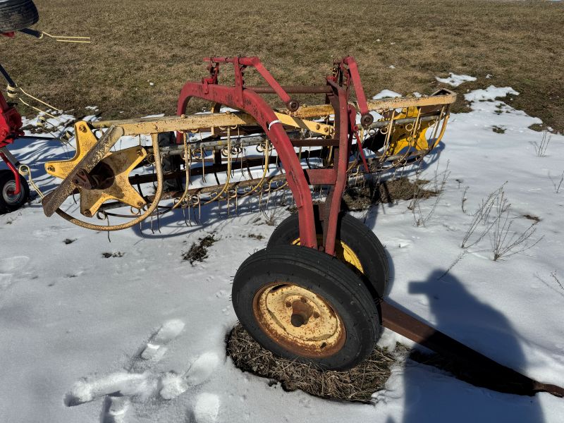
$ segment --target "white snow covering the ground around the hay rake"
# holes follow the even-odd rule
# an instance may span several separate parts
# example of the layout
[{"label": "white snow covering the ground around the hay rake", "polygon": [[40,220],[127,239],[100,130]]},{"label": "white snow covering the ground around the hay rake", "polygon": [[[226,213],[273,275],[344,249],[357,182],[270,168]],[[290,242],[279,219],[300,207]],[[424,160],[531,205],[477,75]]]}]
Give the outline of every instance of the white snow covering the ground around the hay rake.
[{"label": "white snow covering the ground around the hay rake", "polygon": [[[398,202],[356,216],[391,257],[391,302],[498,362],[562,386],[564,186],[556,191],[564,137],[552,135],[546,156],[538,157],[532,143],[541,133],[527,127],[539,119],[492,93],[500,92],[475,92],[472,111],[451,116],[440,157],[422,172],[440,182],[450,171],[435,208],[430,198],[415,215],[409,202]],[[34,176],[44,173],[44,161],[72,156],[48,140],[22,140],[11,151],[32,164]],[[49,178],[37,181],[44,190],[55,186]],[[501,185],[510,233],[525,231],[534,216],[540,221],[527,242],[543,238],[494,262],[491,231],[467,252],[460,245],[471,214]],[[415,225],[433,208],[424,225]],[[496,393],[410,361],[393,369],[372,405],[287,393],[240,372],[224,345],[236,321],[231,278],[274,226],[264,224],[255,201],[239,212],[224,219],[225,205],[214,206],[204,210],[202,226],[192,227],[178,212],[161,219],[160,231],[144,224],[111,233],[111,243],[106,233],[46,218],[38,200],[0,216],[0,422],[564,420],[564,400],[548,393]],[[287,213],[281,209],[279,217]],[[183,261],[181,252],[210,233],[218,241],[209,258],[194,266]],[[398,339],[386,331],[381,344]],[[116,392],[122,396],[106,396]]]}]

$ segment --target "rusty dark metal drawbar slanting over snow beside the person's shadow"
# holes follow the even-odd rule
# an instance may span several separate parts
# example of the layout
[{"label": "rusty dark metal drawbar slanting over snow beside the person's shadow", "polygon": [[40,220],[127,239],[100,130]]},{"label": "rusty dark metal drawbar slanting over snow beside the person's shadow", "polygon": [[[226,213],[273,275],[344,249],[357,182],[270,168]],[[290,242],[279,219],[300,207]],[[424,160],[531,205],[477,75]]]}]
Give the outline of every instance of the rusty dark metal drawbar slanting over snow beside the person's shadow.
[{"label": "rusty dark metal drawbar slanting over snow beside the person's shadow", "polygon": [[394,307],[386,300],[381,300],[379,306],[383,326],[450,360],[467,365],[477,373],[477,379],[472,381],[474,384],[485,387],[494,386],[497,391],[518,395],[532,396],[537,392],[548,392],[554,396],[564,396],[564,388],[542,384],[505,367]]}]

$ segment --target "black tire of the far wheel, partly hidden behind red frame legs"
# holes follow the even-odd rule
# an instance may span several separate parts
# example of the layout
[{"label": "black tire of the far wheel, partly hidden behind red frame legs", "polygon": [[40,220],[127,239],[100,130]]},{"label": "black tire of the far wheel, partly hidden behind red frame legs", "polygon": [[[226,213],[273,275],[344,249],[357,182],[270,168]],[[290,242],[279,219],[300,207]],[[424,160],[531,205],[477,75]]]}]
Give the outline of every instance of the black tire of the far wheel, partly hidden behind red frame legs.
[{"label": "black tire of the far wheel, partly hidden behind red frame legs", "polygon": [[[386,250],[380,240],[364,223],[350,214],[341,214],[337,226],[337,239],[342,240],[357,255],[362,264],[364,283],[372,294],[372,298],[382,298],[388,288],[389,265]],[[317,223],[317,233],[321,234],[321,224]],[[291,245],[300,238],[298,214],[284,219],[270,236],[267,247],[275,245]],[[355,267],[351,269],[361,274]],[[362,275],[362,274],[361,274]]]}]

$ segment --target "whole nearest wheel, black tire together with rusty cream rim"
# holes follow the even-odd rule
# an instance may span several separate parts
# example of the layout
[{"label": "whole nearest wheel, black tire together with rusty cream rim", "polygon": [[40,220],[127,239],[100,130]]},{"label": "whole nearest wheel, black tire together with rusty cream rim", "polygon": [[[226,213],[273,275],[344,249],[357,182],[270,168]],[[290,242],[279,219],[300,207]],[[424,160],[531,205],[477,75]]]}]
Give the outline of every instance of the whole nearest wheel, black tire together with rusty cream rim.
[{"label": "whole nearest wheel, black tire together with rusty cream rim", "polygon": [[233,279],[233,308],[264,348],[324,369],[368,357],[379,336],[376,304],[335,257],[299,245],[255,252]]}]

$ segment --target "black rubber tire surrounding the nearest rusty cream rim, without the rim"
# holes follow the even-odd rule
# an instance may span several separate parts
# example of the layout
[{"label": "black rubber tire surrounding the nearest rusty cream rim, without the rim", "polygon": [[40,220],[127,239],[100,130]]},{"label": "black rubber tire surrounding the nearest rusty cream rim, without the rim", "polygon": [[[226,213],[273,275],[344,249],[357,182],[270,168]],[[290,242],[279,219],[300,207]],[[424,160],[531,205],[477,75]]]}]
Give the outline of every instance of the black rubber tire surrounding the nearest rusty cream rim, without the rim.
[{"label": "black rubber tire surrounding the nearest rusty cream rim, without the rim", "polygon": [[[259,325],[252,310],[255,294],[272,282],[292,283],[324,298],[345,326],[345,341],[333,355],[296,355],[274,341]],[[233,308],[241,324],[264,348],[323,369],[355,366],[374,350],[379,337],[379,314],[364,283],[335,257],[299,245],[277,245],[255,252],[241,264],[233,279]]]}]

